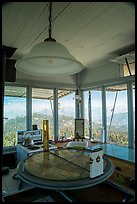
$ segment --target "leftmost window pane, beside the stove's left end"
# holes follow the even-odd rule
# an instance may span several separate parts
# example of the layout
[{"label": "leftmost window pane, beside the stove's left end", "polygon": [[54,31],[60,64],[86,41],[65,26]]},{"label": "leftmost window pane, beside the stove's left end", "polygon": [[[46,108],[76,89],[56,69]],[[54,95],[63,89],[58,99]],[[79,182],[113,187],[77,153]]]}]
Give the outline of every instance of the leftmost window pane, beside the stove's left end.
[{"label": "leftmost window pane, beside the stove's left end", "polygon": [[16,131],[26,130],[26,88],[5,86],[3,146],[17,144]]}]

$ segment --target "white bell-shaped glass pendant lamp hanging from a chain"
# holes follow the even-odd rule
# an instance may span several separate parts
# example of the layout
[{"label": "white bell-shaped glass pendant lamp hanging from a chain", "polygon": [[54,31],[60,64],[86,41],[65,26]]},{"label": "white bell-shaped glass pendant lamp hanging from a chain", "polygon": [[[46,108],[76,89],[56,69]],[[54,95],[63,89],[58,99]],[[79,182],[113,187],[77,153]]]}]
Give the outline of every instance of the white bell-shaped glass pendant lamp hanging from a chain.
[{"label": "white bell-shaped glass pendant lamp hanging from a chain", "polygon": [[34,46],[22,59],[17,70],[35,76],[72,75],[83,70],[83,65],[62,44],[51,37],[52,2],[49,2],[49,37]]}]

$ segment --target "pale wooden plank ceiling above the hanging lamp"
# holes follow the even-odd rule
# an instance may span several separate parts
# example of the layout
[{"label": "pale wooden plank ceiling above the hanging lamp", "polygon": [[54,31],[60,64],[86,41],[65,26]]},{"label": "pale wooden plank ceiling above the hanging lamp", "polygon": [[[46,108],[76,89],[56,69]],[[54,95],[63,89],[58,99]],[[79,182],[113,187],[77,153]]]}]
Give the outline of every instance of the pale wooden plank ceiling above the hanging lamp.
[{"label": "pale wooden plank ceiling above the hanging lamp", "polygon": [[[2,6],[2,45],[18,60],[48,37],[48,2]],[[135,50],[134,2],[53,2],[52,37],[92,69]]]}]

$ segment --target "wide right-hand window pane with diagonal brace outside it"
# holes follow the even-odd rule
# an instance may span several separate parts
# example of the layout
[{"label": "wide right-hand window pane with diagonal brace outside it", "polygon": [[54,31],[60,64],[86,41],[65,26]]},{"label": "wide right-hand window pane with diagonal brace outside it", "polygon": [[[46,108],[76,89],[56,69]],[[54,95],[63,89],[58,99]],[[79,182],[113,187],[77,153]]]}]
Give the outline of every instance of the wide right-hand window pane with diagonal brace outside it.
[{"label": "wide right-hand window pane with diagonal brace outside it", "polygon": [[128,145],[127,85],[106,89],[107,142]]}]

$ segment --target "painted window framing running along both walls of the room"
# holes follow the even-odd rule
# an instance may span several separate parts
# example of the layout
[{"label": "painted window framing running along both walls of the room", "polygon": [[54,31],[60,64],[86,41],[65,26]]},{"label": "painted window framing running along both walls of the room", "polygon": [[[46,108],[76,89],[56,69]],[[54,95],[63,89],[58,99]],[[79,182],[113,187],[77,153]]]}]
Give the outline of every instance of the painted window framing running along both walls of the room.
[{"label": "painted window framing running along both walls of the room", "polygon": [[[131,127],[131,124],[133,124],[133,93],[132,93],[132,84],[135,83],[135,76],[127,76],[127,77],[122,77],[120,79],[117,80],[108,80],[105,83],[104,82],[96,82],[94,84],[88,84],[85,87],[81,86],[81,93],[82,95],[84,91],[89,91],[95,88],[101,88],[102,89],[102,126],[104,127],[104,129],[106,128],[106,91],[105,89],[108,86],[115,86],[115,85],[120,85],[120,84],[127,84],[128,89],[127,89],[127,97],[128,97],[128,121],[129,121],[129,126],[128,126],[128,147],[130,148],[135,148],[134,145],[134,131],[133,131],[133,126]],[[45,86],[45,85],[26,85],[23,83],[12,83],[12,82],[6,82],[4,85],[12,85],[12,86],[20,86],[20,87],[26,87],[27,88],[27,129],[30,129],[32,127],[32,98],[31,98],[31,94],[32,94],[32,88],[45,88],[45,89],[53,89],[53,95],[54,95],[54,110],[55,110],[55,117],[54,117],[54,139],[57,140],[58,139],[58,90],[62,89],[62,90],[71,90],[71,91],[75,91],[75,88],[62,88],[62,87],[58,87],[58,88],[54,88],[53,85],[52,86]],[[83,101],[84,101],[84,97],[83,97]],[[81,106],[81,115],[84,116],[84,102],[82,101],[82,106]],[[132,107],[132,108],[131,108]],[[75,108],[75,112],[77,112],[77,109]],[[76,116],[76,113],[75,113]],[[77,117],[76,117],[77,118]],[[105,139],[104,142],[106,142],[106,138],[107,138],[107,134],[105,132]]]}]

